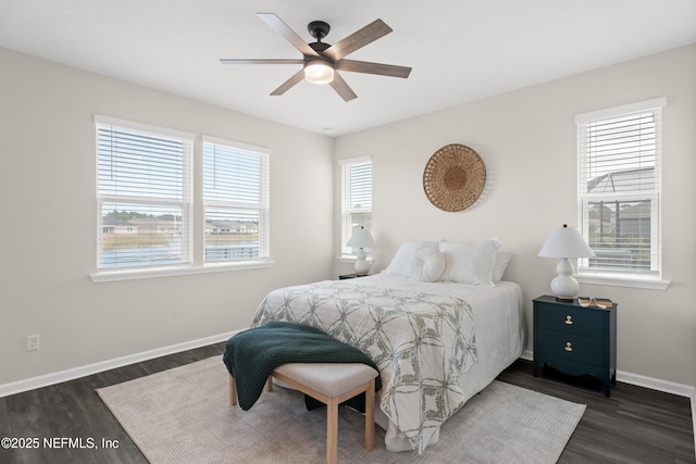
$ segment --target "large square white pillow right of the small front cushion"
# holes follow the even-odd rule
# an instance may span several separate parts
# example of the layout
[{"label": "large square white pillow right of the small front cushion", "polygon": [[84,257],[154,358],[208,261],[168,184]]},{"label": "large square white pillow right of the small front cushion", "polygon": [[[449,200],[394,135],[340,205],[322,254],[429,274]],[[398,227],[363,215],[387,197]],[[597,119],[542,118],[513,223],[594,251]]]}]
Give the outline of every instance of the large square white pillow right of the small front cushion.
[{"label": "large square white pillow right of the small front cushion", "polygon": [[440,280],[471,285],[495,285],[493,267],[496,263],[496,247],[493,241],[442,241],[439,251],[445,255],[447,262]]}]

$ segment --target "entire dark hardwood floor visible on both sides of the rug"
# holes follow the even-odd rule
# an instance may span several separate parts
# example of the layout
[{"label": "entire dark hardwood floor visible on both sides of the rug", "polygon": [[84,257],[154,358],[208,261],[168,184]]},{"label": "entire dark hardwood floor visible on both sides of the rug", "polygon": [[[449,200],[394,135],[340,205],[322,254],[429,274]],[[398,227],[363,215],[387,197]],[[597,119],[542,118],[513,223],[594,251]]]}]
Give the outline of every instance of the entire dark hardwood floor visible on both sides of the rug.
[{"label": "entire dark hardwood floor visible on both sides of the rug", "polygon": [[[223,350],[224,343],[216,343],[0,398],[0,438],[15,439],[14,444],[25,439],[29,446],[32,439],[40,440],[37,449],[0,449],[0,463],[147,463],[95,389],[222,355]],[[568,378],[550,368],[535,378],[523,360],[498,379],[587,404],[559,463],[696,462],[688,399],[621,383],[606,398],[592,379]],[[79,439],[83,448],[71,447]],[[103,448],[102,439],[117,448]]]}]

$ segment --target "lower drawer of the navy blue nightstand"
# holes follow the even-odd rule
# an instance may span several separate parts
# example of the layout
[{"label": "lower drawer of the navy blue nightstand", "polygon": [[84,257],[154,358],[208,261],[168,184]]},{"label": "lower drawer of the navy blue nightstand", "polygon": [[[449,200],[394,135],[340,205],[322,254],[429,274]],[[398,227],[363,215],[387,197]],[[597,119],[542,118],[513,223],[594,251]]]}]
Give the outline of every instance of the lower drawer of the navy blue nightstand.
[{"label": "lower drawer of the navy blue nightstand", "polygon": [[[605,341],[599,338],[577,334],[538,328],[534,335],[535,355],[550,355],[563,360],[601,366],[605,360]],[[538,350],[538,353],[537,353]]]}]

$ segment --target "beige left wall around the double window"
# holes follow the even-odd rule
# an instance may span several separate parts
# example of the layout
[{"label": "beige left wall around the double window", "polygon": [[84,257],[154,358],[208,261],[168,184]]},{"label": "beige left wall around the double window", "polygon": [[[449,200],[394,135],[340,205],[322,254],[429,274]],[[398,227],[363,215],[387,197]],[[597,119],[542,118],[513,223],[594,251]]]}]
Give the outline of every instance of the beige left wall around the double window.
[{"label": "beige left wall around the double window", "polygon": [[[243,329],[333,275],[333,139],[3,49],[0,70],[0,386]],[[94,113],[270,148],[275,265],[92,284]]]}]

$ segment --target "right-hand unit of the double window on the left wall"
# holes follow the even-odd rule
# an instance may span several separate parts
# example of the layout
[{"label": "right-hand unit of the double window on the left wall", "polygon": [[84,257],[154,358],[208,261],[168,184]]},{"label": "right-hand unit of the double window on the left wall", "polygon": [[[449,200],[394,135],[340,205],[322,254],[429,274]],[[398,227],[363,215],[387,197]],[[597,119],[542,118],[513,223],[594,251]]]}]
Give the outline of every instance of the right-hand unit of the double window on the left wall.
[{"label": "right-hand unit of the double window on the left wall", "polygon": [[204,262],[270,260],[269,151],[203,137]]}]

